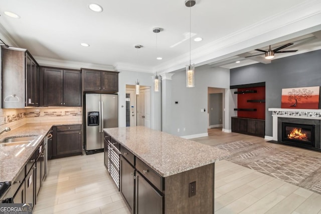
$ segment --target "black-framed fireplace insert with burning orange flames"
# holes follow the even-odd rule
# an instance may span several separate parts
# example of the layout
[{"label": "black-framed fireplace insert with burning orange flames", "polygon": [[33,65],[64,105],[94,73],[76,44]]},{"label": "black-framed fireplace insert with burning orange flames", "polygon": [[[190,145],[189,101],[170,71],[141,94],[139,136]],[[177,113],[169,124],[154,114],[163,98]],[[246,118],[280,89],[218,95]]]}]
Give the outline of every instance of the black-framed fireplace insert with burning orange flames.
[{"label": "black-framed fireplace insert with burning orange flames", "polygon": [[282,142],[315,146],[315,125],[282,122]]}]

